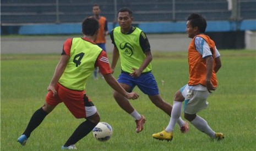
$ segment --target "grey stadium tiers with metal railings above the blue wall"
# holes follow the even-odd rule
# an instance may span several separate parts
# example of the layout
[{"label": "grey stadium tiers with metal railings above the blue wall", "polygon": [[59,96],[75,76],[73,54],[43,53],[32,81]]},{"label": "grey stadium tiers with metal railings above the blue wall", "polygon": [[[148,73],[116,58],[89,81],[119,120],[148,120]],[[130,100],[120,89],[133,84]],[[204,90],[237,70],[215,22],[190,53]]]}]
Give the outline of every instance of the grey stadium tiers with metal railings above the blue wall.
[{"label": "grey stadium tiers with metal railings above the blue wall", "polygon": [[255,0],[2,0],[1,24],[81,22],[92,15],[95,3],[110,22],[122,7],[133,10],[135,23],[183,21],[190,13],[207,20],[256,19]]}]

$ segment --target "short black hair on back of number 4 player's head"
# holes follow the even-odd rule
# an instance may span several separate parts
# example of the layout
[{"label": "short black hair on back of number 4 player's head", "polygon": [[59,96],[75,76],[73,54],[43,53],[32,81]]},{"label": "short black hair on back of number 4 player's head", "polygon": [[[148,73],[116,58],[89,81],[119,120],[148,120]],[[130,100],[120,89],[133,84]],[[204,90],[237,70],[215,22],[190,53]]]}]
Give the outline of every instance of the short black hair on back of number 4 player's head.
[{"label": "short black hair on back of number 4 player's head", "polygon": [[86,36],[94,36],[94,34],[99,30],[99,21],[95,18],[85,18],[82,23],[82,32]]}]

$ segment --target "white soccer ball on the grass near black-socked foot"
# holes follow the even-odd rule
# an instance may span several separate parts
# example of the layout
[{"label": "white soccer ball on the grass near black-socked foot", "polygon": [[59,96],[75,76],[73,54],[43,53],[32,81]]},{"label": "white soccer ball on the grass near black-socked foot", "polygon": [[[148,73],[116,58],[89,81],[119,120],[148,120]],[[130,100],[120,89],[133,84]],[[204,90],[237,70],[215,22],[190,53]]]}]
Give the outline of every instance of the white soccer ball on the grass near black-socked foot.
[{"label": "white soccer ball on the grass near black-socked foot", "polygon": [[92,130],[92,134],[94,135],[94,138],[96,138],[96,140],[100,142],[105,142],[107,140],[110,140],[112,132],[113,132],[112,127],[106,122],[98,123]]}]

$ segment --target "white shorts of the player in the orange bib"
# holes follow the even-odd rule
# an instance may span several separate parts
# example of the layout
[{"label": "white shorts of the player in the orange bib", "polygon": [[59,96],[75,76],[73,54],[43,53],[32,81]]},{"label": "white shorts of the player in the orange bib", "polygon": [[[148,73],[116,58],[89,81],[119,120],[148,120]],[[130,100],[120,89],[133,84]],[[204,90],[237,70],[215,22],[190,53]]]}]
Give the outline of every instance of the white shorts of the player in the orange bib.
[{"label": "white shorts of the player in the orange bib", "polygon": [[206,101],[210,95],[208,91],[192,90],[190,86],[184,85],[181,88],[181,93],[185,97],[184,113],[196,114],[208,106],[208,102]]}]

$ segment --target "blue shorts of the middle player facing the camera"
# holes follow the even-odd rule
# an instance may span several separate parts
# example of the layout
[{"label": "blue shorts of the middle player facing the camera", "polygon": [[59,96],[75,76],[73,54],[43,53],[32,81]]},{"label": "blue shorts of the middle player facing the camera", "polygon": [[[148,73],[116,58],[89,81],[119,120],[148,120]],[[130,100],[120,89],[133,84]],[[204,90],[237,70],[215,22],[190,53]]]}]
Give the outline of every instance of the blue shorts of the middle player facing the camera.
[{"label": "blue shorts of the middle player facing the camera", "polygon": [[146,95],[159,95],[159,89],[156,84],[155,77],[151,72],[141,73],[138,78],[133,78],[128,73],[122,72],[117,81],[119,83],[129,85],[131,87],[130,92],[132,92],[134,87],[137,85],[138,88]]}]

